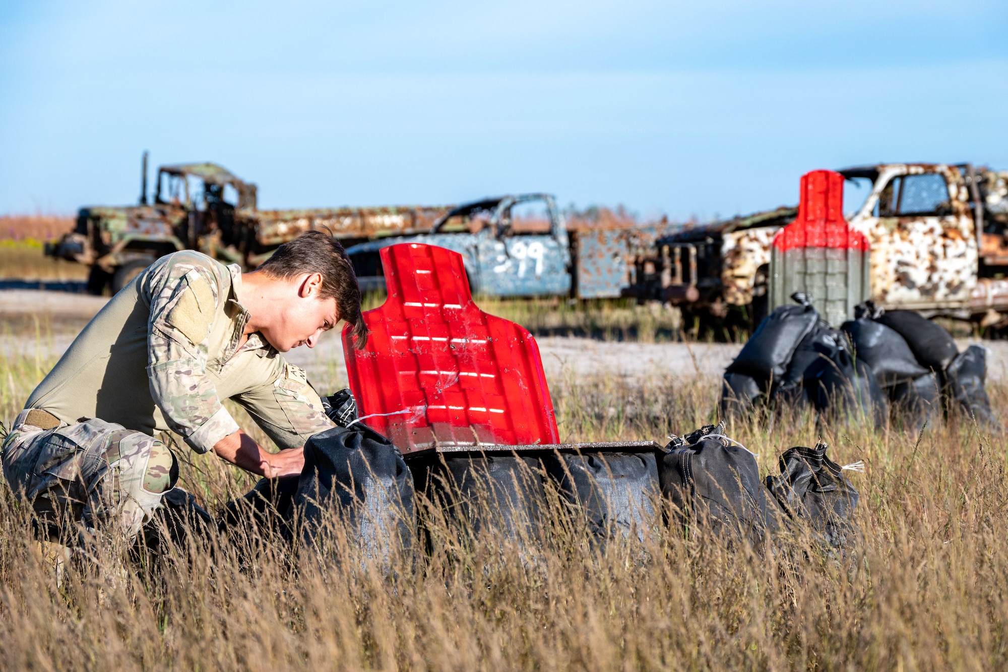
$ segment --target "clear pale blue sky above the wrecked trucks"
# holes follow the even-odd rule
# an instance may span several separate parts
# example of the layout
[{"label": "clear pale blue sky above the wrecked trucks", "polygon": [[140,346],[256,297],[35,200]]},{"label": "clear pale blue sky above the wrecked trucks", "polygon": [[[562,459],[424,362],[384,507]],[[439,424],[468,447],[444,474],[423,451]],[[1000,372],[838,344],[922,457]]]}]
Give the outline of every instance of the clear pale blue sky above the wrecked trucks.
[{"label": "clear pale blue sky above the wrecked trucks", "polygon": [[1008,4],[0,3],[0,212],[135,202],[143,149],[262,207],[751,212],[812,169],[1008,169]]}]

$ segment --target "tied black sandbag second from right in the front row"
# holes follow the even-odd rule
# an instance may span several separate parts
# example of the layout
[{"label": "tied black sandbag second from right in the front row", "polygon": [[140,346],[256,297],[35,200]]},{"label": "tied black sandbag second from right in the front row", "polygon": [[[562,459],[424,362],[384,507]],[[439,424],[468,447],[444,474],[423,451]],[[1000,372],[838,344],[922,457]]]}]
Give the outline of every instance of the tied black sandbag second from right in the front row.
[{"label": "tied black sandbag second from right in the front row", "polygon": [[727,439],[724,425],[708,425],[676,438],[659,456],[661,493],[675,505],[682,523],[709,522],[716,533],[740,532],[759,539],[775,529],[756,457]]}]

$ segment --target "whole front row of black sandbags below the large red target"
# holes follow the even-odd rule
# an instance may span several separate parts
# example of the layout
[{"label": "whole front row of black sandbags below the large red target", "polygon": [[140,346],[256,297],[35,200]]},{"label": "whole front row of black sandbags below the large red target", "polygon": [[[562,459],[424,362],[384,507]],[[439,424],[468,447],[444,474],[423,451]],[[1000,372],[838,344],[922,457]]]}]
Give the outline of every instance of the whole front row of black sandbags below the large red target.
[{"label": "whole front row of black sandbags below the large red target", "polygon": [[[355,424],[349,390],[325,403],[339,425]],[[352,429],[338,427],[311,437],[299,478],[286,484],[283,479],[264,479],[245,500],[259,511],[270,501],[285,520],[300,509],[308,537],[324,523],[328,505],[335,500],[359,543],[369,555],[383,559],[392,535],[406,548],[413,543],[414,486],[431,500],[440,500],[443,511],[463,519],[473,533],[497,526],[517,541],[539,536],[547,479],[568,505],[587,517],[600,542],[614,535],[642,540],[655,522],[659,493],[671,497],[679,511],[703,510],[702,516],[689,517],[694,525],[706,520],[715,531],[728,526],[762,536],[776,528],[778,512],[767,507],[753,455],[720,431],[723,426],[707,427],[685,439],[673,438],[663,451],[655,452],[537,456],[469,452],[407,463],[391,442],[357,423]],[[781,459],[780,471],[780,476],[767,478],[773,500],[787,516],[809,520],[831,544],[841,545],[839,531],[851,521],[857,491],[826,458],[825,444],[791,449]]]}]

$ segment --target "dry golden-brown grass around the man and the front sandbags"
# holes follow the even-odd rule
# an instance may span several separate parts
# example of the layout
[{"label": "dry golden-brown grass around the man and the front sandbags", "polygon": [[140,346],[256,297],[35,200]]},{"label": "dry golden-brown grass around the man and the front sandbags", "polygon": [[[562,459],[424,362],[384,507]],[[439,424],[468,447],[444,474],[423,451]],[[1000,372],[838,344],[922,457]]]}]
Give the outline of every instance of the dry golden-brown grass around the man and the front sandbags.
[{"label": "dry golden-brown grass around the man and the front sandbags", "polygon": [[[30,327],[34,330],[34,327]],[[0,358],[9,423],[53,363]],[[324,390],[340,386],[341,367]],[[568,440],[663,439],[714,419],[717,381],[559,375]],[[990,389],[1008,417],[1008,389]],[[363,557],[340,519],[313,546],[266,529],[191,539],[145,562],[99,535],[56,572],[28,513],[0,495],[0,660],[8,669],[1004,669],[1008,479],[1002,437],[965,419],[920,437],[809,418],[756,418],[728,433],[764,473],[822,434],[861,492],[845,554],[808,531],[765,545],[656,524],[592,543],[552,505],[536,539],[475,539],[427,510],[431,552]],[[263,437],[259,437],[262,439]],[[251,481],[180,453],[181,484],[209,509]]]}]

